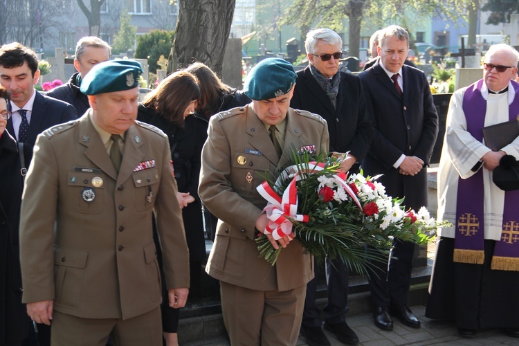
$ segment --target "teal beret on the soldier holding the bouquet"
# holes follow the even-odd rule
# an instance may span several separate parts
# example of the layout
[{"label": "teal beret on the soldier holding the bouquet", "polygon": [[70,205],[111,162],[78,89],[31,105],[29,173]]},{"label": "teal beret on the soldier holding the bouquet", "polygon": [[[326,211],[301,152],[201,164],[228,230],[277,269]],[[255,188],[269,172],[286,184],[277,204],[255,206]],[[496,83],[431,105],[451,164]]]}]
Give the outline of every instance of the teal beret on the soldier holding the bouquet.
[{"label": "teal beret on the soldier holding the bouquet", "polygon": [[247,74],[244,93],[257,101],[277,98],[292,89],[296,77],[291,63],[269,57],[259,62]]}]

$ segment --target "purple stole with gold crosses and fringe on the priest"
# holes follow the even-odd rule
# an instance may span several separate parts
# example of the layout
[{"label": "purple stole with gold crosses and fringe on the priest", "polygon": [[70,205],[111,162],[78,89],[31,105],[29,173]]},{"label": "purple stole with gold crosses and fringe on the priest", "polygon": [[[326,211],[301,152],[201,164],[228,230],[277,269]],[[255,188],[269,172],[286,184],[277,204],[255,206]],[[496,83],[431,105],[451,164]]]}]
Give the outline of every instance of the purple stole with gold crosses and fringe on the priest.
[{"label": "purple stole with gold crosses and fringe on the priest", "polygon": [[[468,86],[463,97],[463,111],[467,119],[467,131],[475,139],[483,141],[486,100],[481,94],[483,80]],[[516,98],[509,104],[509,120],[519,115],[519,84],[511,82]],[[468,179],[459,178],[456,204],[456,233],[454,261],[483,264],[484,261],[484,188],[483,170]],[[504,194],[504,210],[501,241],[496,242],[492,268],[519,271],[519,191]]]}]

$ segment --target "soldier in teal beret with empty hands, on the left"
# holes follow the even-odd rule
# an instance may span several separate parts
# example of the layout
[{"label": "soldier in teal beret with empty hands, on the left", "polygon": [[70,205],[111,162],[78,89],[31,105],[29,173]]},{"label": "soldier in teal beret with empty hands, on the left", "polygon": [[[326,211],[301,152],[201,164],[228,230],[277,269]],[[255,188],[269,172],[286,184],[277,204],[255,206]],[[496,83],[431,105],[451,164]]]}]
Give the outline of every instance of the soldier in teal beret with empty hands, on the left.
[{"label": "soldier in teal beret with empty hands, on the left", "polygon": [[189,262],[167,136],[136,122],[138,62],[93,67],[91,108],[37,138],[20,224],[23,302],[53,345],[162,345],[156,215],[170,306]]}]

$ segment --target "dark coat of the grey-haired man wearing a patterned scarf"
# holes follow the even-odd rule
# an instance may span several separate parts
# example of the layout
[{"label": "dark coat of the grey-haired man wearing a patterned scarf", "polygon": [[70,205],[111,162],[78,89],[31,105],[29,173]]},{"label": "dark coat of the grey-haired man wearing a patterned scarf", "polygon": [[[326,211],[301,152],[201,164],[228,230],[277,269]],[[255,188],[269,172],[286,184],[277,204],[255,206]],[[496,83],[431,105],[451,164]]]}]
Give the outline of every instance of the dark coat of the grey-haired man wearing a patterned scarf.
[{"label": "dark coat of the grey-haired man wearing a patterned scarf", "polygon": [[313,78],[310,66],[297,73],[290,107],[304,109],[325,118],[330,136],[330,151],[349,151],[360,162],[370,147],[373,125],[367,113],[360,78],[351,73],[339,73],[335,108],[316,78]]}]

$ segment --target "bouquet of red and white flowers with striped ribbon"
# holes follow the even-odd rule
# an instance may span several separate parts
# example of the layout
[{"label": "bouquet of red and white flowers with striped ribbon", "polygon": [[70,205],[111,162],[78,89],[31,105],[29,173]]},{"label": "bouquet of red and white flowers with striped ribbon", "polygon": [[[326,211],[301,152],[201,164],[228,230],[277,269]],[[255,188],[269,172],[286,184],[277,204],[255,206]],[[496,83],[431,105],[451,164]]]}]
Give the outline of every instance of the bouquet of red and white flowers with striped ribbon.
[{"label": "bouquet of red and white flowers with striped ribbon", "polygon": [[[264,233],[277,240],[294,232],[318,260],[339,258],[367,273],[371,261],[387,259],[395,239],[425,244],[436,228],[452,226],[437,223],[425,207],[406,210],[402,199],[385,194],[379,176],[346,176],[334,156],[295,153],[293,161],[276,181],[257,187],[268,201]],[[265,234],[256,242],[260,257],[274,265],[282,247],[273,248]]]}]

